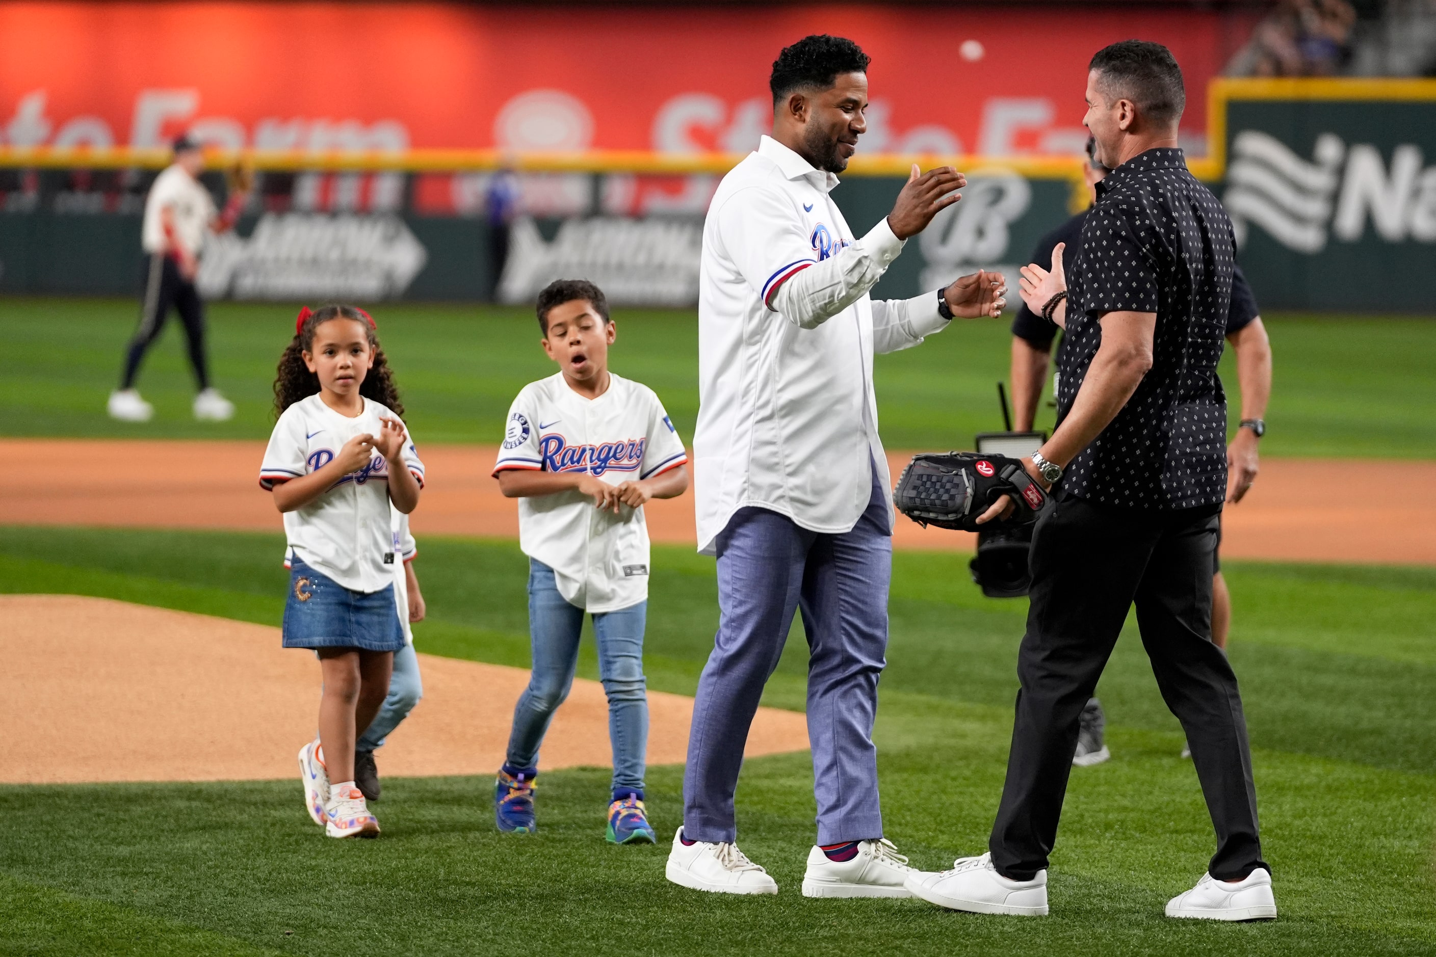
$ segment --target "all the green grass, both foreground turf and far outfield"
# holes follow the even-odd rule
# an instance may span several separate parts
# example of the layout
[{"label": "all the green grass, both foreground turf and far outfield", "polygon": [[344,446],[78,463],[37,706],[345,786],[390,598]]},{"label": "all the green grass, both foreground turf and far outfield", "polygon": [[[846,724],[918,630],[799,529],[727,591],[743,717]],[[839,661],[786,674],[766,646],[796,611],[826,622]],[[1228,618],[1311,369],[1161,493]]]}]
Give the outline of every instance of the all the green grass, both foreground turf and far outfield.
[{"label": "all the green grass, both foreground turf and far outfield", "polygon": [[[524,310],[376,311],[421,445],[497,442],[513,395],[551,370]],[[103,406],[135,306],[0,300],[0,435],[263,439],[292,317],[287,306],[211,310],[215,380],[238,403],[225,425],[190,418],[171,327],[141,380],[157,418],[126,426]],[[694,316],[616,319],[615,370],[653,386],[691,436]],[[1277,372],[1264,452],[1436,458],[1436,324],[1267,321]],[[994,382],[1007,377],[1007,354],[1005,323],[974,321],[880,356],[887,445],[962,448],[999,428]],[[1223,379],[1235,392],[1229,359]],[[0,591],[277,624],[280,554],[279,535],[10,527],[0,528]],[[655,547],[653,567],[649,686],[691,694],[717,623],[712,562]],[[528,664],[514,542],[426,538],[418,572],[429,603],[415,628],[421,650]],[[389,779],[376,806],[383,838],[359,844],[323,838],[293,781],[0,786],[0,954],[1436,953],[1436,568],[1229,562],[1226,575],[1281,908],[1272,924],[1162,917],[1166,898],[1202,874],[1213,838],[1192,765],[1178,758],[1180,730],[1129,633],[1099,689],[1114,756],[1074,769],[1045,920],[800,897],[811,768],[788,755],[748,762],[738,793],[742,847],[783,887],[764,900],[669,885],[663,845],[606,845],[606,769],[546,772],[541,831],[523,838],[494,832],[491,779]],[[964,555],[899,552],[890,611],[876,732],[886,826],[916,865],[936,869],[985,848],[1025,601],[982,598]],[[804,661],[796,626],[767,704],[803,709]],[[597,676],[587,644],[580,673]],[[236,735],[243,727],[238,715]],[[681,768],[651,769],[665,842],[681,785]]]}]

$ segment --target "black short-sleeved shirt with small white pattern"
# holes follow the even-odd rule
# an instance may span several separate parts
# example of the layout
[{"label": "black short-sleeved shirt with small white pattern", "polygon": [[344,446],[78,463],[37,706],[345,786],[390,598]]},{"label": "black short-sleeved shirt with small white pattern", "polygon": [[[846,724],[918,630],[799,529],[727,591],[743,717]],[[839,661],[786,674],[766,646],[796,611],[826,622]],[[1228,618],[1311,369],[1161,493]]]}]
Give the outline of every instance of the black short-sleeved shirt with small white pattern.
[{"label": "black short-sleeved shirt with small white pattern", "polygon": [[1099,317],[1156,313],[1152,369],[1061,478],[1091,502],[1137,509],[1219,504],[1226,494],[1226,396],[1216,377],[1236,242],[1226,211],[1180,149],[1149,149],[1097,184],[1067,277],[1058,422],[1101,344]]}]

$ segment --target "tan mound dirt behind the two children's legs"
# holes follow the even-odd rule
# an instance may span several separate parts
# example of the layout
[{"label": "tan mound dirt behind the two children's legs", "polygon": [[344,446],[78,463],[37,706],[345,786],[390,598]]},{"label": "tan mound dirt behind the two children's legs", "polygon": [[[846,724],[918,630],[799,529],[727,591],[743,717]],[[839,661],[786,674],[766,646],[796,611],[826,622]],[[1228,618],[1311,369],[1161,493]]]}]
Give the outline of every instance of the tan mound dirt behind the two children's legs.
[{"label": "tan mound dirt behind the two children's legs", "polygon": [[[319,667],[279,630],[75,595],[0,595],[4,783],[251,781],[296,773]],[[379,752],[385,775],[487,775],[504,760],[521,669],[421,654],[424,700]],[[648,760],[681,763],[692,699],[648,693]],[[806,750],[803,715],[760,707],[747,755]],[[607,704],[576,680],[544,768],[610,762]],[[296,793],[299,786],[296,785]]]}]

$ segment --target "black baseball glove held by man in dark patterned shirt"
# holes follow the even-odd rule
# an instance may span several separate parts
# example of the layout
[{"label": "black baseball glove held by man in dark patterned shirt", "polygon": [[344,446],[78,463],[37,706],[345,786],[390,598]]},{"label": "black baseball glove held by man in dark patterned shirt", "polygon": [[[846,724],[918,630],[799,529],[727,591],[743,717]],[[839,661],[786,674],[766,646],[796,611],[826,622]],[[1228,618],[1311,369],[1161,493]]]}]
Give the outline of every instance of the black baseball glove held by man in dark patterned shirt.
[{"label": "black baseball glove held by man in dark patterned shirt", "polygon": [[[978,525],[976,519],[1001,495],[1012,496],[1012,514]],[[1045,492],[1020,459],[979,452],[915,455],[893,489],[893,506],[919,525],[968,532],[1025,525],[1045,504]]]}]

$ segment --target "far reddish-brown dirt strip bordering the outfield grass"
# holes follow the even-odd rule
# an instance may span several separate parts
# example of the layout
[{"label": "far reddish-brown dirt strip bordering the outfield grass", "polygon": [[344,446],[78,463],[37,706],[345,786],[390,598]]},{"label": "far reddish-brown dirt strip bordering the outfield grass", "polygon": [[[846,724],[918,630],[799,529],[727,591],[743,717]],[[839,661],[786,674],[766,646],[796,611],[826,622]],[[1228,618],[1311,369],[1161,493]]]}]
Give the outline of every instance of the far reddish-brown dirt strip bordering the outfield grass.
[{"label": "far reddish-brown dirt strip bordering the outfield grass", "polygon": [[[263,442],[4,439],[23,469],[0,473],[0,524],[277,529],[258,488]],[[513,501],[490,478],[493,446],[425,446],[419,535],[518,535]],[[906,452],[889,461],[896,475]],[[1436,565],[1436,462],[1267,459],[1226,509],[1222,554],[1274,561]],[[655,541],[694,544],[692,496],[651,502]],[[971,551],[974,537],[899,519],[898,548]]]}]

